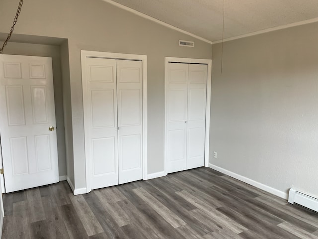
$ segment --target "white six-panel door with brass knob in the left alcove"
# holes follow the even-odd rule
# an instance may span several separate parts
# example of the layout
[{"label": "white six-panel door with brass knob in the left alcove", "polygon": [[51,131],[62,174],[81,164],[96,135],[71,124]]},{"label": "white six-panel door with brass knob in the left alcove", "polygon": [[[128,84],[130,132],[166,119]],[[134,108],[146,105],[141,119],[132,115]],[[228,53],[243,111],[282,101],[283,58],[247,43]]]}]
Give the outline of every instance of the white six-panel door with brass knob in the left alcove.
[{"label": "white six-panel door with brass knob in the left alcove", "polygon": [[0,55],[5,192],[59,181],[52,62]]}]

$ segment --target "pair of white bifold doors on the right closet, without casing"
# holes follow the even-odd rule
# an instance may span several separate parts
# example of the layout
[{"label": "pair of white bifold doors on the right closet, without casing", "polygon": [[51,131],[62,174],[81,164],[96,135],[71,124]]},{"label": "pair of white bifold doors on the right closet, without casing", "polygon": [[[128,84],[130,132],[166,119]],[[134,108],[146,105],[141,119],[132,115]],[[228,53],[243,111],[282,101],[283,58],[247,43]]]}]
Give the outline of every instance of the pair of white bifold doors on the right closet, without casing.
[{"label": "pair of white bifold doors on the right closet, without casing", "polygon": [[167,67],[165,157],[171,173],[204,166],[207,65]]}]

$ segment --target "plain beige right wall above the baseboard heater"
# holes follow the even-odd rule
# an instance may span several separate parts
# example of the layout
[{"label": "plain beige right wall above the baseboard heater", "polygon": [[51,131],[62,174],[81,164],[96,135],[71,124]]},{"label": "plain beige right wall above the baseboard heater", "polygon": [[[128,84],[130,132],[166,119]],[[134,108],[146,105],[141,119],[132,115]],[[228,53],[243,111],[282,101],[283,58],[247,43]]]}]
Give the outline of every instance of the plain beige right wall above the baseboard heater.
[{"label": "plain beige right wall above the baseboard heater", "polygon": [[[318,196],[318,23],[213,45],[210,163]],[[217,151],[218,158],[213,158]]]}]

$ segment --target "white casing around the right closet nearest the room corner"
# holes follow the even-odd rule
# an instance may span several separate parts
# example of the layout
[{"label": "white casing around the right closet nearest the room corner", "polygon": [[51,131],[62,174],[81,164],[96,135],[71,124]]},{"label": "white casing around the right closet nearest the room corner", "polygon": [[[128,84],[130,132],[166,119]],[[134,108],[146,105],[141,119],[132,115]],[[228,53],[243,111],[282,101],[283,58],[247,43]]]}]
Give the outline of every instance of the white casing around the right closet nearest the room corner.
[{"label": "white casing around the right closet nearest the room corner", "polygon": [[209,141],[210,141],[210,109],[211,109],[211,81],[212,81],[212,60],[211,59],[194,59],[180,57],[165,57],[165,74],[164,74],[164,176],[167,175],[167,80],[168,80],[168,63],[193,63],[206,64],[207,71],[207,99],[206,99],[206,115],[205,115],[205,151],[204,166],[209,166]]}]

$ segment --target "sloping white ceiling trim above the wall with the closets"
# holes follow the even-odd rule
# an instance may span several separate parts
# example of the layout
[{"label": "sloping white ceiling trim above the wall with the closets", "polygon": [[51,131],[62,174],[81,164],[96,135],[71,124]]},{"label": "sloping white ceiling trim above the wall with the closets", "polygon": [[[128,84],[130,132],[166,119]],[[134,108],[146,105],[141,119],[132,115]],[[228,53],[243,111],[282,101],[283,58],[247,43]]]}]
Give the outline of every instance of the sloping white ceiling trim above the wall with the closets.
[{"label": "sloping white ceiling trim above the wall with the closets", "polygon": [[180,29],[180,28],[178,28],[178,27],[172,26],[172,25],[170,25],[170,24],[168,24],[168,23],[165,23],[165,22],[163,22],[163,21],[158,20],[157,18],[154,18],[154,17],[149,16],[149,15],[147,15],[147,14],[145,14],[145,13],[142,13],[142,12],[140,12],[140,11],[137,11],[137,10],[135,10],[135,9],[132,9],[132,8],[130,8],[130,7],[128,7],[128,6],[122,5],[122,4],[118,3],[118,2],[114,2],[114,1],[112,1],[112,0],[103,0],[103,1],[108,2],[108,3],[112,4],[112,5],[115,5],[115,6],[119,7],[119,8],[122,8],[122,9],[124,9],[124,10],[126,10],[126,11],[130,11],[130,12],[132,12],[132,13],[138,15],[138,16],[141,16],[141,17],[143,17],[143,18],[146,18],[146,19],[148,19],[148,20],[154,21],[154,22],[156,22],[156,23],[158,23],[158,24],[160,24],[160,25],[163,25],[163,26],[165,26],[165,27],[168,27],[168,28],[170,28],[170,29],[179,31],[179,32],[181,32],[181,33],[183,33],[183,34],[192,36],[192,37],[194,37],[194,38],[196,38],[196,39],[199,39],[199,40],[201,40],[201,41],[204,41],[204,42],[207,42],[207,43],[212,44],[212,41],[209,41],[209,40],[207,40],[207,39],[205,39],[205,38],[203,38],[203,37],[201,37],[201,36],[194,35],[194,34],[188,32],[188,31],[185,31],[185,30],[182,30],[182,29]]}]

